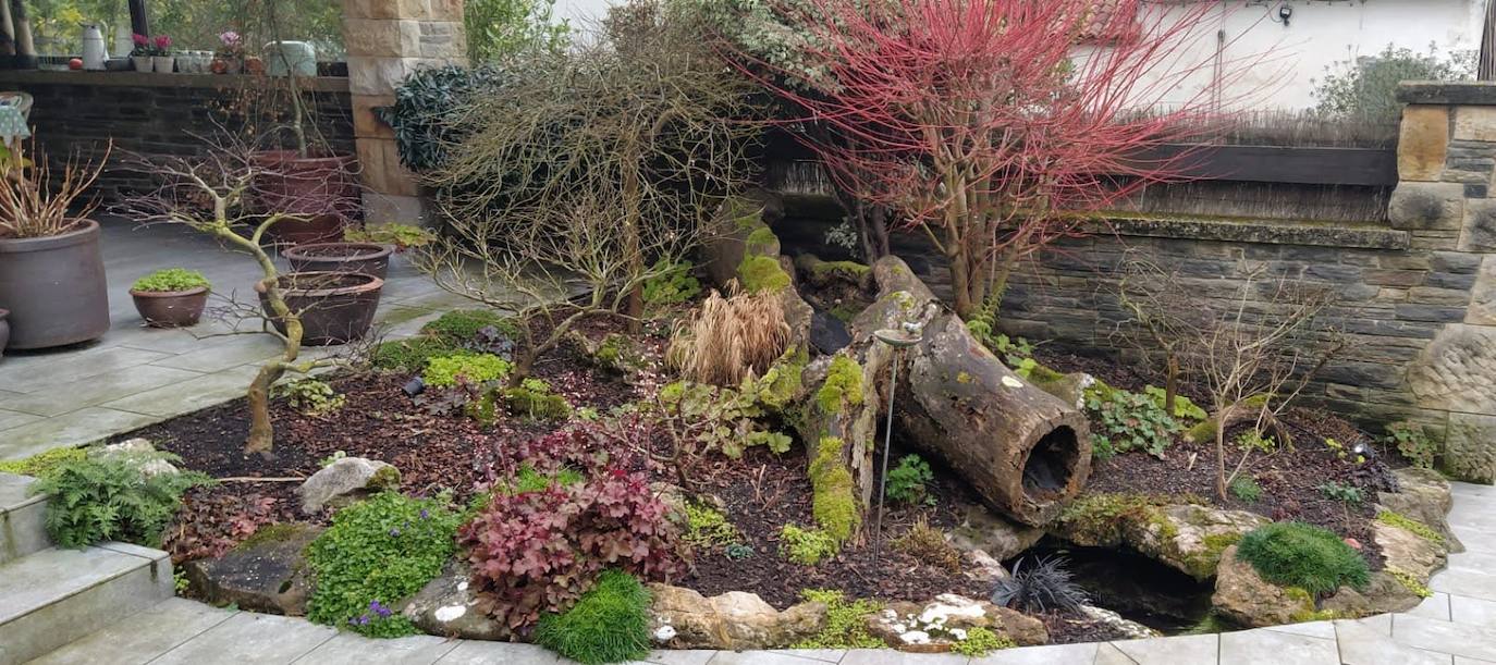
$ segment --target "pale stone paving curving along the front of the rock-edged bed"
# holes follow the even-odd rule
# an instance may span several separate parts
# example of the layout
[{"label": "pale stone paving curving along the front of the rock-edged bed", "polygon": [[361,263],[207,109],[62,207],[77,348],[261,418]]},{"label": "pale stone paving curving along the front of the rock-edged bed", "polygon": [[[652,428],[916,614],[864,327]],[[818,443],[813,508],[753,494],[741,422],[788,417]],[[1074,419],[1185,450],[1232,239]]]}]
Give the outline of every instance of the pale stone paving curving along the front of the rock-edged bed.
[{"label": "pale stone paving curving along the front of the rock-edged bed", "polygon": [[[892,650],[654,652],[655,665],[1478,665],[1496,662],[1496,487],[1454,484],[1450,526],[1466,551],[1406,614],[1222,635],[1011,649],[984,658]],[[174,598],[34,664],[507,664],[560,665],[528,644],[370,640],[304,619]]]}]

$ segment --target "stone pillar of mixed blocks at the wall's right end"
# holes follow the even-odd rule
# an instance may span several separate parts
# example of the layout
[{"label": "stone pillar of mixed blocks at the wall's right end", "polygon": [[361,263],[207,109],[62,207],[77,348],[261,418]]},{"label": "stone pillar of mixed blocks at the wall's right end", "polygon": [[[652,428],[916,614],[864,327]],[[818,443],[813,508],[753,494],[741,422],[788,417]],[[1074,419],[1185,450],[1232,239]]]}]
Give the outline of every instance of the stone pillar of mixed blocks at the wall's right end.
[{"label": "stone pillar of mixed blocks at the wall's right end", "polygon": [[[1496,84],[1405,82],[1388,218],[1432,251],[1451,317],[1408,371],[1444,469],[1496,481]],[[1442,266],[1442,270],[1441,270]],[[1438,291],[1438,293],[1433,293]]]}]

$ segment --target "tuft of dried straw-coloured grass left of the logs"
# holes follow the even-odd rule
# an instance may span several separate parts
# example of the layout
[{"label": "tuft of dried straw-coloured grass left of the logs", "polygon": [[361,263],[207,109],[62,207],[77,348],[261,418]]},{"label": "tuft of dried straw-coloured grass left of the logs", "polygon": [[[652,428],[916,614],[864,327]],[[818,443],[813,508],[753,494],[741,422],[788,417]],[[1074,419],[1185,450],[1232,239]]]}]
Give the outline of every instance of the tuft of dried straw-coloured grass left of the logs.
[{"label": "tuft of dried straw-coloured grass left of the logs", "polygon": [[769,369],[788,344],[776,294],[712,291],[676,326],[667,357],[691,381],[735,387]]}]

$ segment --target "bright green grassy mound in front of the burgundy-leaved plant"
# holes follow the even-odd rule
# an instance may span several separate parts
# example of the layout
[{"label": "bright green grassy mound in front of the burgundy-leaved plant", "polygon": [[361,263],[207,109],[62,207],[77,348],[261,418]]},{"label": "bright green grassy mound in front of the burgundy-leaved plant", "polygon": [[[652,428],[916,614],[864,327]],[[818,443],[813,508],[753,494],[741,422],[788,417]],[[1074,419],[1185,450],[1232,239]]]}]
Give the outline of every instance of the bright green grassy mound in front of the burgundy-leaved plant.
[{"label": "bright green grassy mound in front of the burgundy-leaved plant", "polygon": [[540,617],[536,644],[582,665],[639,661],[649,653],[649,592],[627,572],[603,571],[570,610]]}]

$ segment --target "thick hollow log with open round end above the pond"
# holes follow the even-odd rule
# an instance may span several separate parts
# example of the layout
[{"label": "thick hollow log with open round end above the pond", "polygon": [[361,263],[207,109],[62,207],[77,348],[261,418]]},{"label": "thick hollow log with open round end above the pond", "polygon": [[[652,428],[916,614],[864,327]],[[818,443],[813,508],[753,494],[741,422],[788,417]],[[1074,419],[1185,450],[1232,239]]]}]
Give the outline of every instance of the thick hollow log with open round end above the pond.
[{"label": "thick hollow log with open round end above the pond", "polygon": [[1004,366],[898,257],[878,260],[874,278],[878,300],[853,321],[854,347],[875,345],[880,327],[923,324],[899,360],[895,426],[905,441],[993,510],[1031,526],[1053,520],[1091,474],[1085,414]]}]

